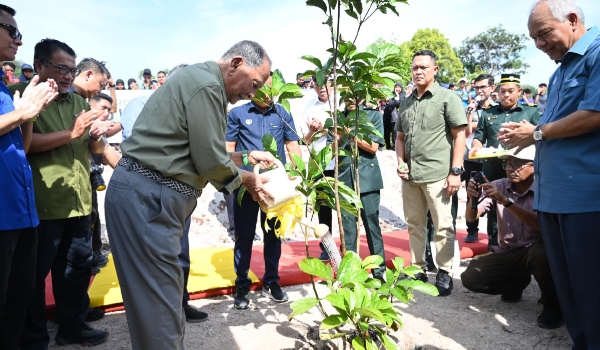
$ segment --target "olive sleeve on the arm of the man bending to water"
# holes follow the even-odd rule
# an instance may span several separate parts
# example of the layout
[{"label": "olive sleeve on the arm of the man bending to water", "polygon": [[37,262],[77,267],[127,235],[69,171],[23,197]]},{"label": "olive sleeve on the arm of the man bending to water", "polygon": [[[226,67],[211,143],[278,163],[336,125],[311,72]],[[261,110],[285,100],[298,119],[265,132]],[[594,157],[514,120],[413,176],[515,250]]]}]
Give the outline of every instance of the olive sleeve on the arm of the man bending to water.
[{"label": "olive sleeve on the arm of the man bending to water", "polygon": [[[217,190],[233,193],[242,183],[241,171],[225,148],[226,120],[220,86],[206,86],[185,103],[190,155],[198,173]],[[202,111],[202,112],[199,112]]]}]

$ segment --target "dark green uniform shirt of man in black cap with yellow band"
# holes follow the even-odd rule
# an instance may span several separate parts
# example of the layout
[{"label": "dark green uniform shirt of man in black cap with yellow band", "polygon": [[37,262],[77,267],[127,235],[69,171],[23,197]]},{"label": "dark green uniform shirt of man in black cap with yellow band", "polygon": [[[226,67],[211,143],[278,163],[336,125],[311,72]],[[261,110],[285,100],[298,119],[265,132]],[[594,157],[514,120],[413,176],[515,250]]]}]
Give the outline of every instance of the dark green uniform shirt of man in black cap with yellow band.
[{"label": "dark green uniform shirt of man in black cap with yellow band", "polygon": [[[477,123],[477,130],[475,131],[475,139],[479,140],[486,147],[492,146],[498,148],[500,145],[498,133],[500,132],[502,123],[519,123],[522,120],[537,125],[540,120],[538,109],[520,103],[510,111],[505,111],[500,105],[490,106],[481,113],[481,117]],[[490,181],[506,177],[506,171],[502,169],[502,160],[498,158],[484,159],[483,172]]]}]

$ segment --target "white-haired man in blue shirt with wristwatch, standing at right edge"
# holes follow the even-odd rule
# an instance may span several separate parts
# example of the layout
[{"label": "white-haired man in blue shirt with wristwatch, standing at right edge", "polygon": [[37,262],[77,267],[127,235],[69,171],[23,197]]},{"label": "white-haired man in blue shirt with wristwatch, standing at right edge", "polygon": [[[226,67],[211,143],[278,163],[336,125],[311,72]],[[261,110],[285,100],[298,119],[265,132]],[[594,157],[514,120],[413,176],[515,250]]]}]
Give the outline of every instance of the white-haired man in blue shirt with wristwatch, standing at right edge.
[{"label": "white-haired man in blue shirt with wristwatch, standing at right edge", "polygon": [[518,149],[536,145],[533,208],[567,330],[573,349],[600,349],[594,229],[600,222],[600,30],[586,29],[573,0],[538,1],[528,26],[537,48],[560,66],[539,124],[507,124],[499,139]]}]

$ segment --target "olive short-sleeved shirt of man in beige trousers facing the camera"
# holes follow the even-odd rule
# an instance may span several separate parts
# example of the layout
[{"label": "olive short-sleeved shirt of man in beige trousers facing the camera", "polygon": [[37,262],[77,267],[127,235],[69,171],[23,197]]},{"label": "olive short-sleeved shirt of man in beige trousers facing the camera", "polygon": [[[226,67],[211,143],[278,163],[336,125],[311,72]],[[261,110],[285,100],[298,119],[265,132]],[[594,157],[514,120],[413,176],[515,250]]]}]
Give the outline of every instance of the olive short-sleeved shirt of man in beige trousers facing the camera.
[{"label": "olive short-sleeved shirt of man in beige trousers facing the camera", "polygon": [[421,98],[415,89],[399,109],[395,130],[404,133],[404,161],[411,181],[429,183],[446,178],[454,148],[450,129],[467,125],[460,97],[434,83]]}]

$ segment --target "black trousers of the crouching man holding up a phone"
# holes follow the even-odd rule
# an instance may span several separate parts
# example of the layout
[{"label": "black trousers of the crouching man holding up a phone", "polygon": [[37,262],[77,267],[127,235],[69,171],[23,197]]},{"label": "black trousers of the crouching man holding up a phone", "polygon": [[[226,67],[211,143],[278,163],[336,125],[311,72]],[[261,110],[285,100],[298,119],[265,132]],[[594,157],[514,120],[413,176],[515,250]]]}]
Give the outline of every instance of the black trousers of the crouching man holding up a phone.
[{"label": "black trousers of the crouching man holding up a phone", "polygon": [[531,282],[531,275],[540,286],[542,304],[558,307],[543,241],[502,253],[478,255],[471,260],[460,278],[463,286],[473,292],[511,295],[522,292]]}]

